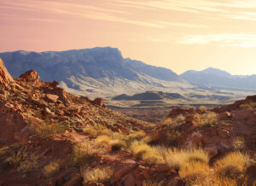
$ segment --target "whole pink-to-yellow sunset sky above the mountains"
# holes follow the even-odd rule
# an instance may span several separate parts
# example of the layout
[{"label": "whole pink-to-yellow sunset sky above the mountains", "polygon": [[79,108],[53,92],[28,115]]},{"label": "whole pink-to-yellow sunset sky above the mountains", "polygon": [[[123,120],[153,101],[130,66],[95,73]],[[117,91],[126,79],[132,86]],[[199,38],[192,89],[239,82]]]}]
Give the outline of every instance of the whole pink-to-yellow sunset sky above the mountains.
[{"label": "whole pink-to-yellow sunset sky above the mountains", "polygon": [[0,0],[0,52],[104,46],[178,74],[256,74],[256,1]]}]

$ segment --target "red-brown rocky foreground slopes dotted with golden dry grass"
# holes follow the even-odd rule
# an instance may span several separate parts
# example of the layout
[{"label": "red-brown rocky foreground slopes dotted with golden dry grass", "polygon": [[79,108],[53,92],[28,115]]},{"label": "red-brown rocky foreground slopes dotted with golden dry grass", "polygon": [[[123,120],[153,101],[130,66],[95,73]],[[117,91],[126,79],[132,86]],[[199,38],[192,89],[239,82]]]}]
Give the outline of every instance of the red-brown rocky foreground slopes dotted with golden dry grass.
[{"label": "red-brown rocky foreground slopes dotted with golden dry grass", "polygon": [[0,60],[0,185],[256,183],[256,96],[154,125],[57,85]]}]

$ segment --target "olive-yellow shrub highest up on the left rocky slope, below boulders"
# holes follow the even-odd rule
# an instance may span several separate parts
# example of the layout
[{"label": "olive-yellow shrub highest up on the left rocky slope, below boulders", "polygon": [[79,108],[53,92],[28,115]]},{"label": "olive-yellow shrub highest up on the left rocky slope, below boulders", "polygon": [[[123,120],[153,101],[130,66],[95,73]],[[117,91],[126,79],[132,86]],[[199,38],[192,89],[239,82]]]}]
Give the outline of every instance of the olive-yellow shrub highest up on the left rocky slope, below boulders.
[{"label": "olive-yellow shrub highest up on the left rocky slope, below boulders", "polygon": [[42,123],[41,125],[34,126],[33,129],[38,137],[46,140],[52,135],[64,133],[67,130],[67,125],[61,123]]}]

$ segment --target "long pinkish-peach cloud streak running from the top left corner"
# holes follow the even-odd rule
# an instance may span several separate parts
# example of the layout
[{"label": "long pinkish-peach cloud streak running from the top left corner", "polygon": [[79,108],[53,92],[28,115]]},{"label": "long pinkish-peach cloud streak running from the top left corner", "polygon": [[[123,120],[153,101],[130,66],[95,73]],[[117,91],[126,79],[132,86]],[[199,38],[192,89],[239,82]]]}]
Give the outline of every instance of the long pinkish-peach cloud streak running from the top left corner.
[{"label": "long pinkish-peach cloud streak running from the top left corner", "polygon": [[[114,3],[114,0],[103,0],[99,3],[70,3],[61,1],[48,0],[9,0],[0,3],[1,9],[20,9],[26,11],[44,12],[44,14],[63,14],[75,15],[84,19],[90,20],[105,20],[119,22],[137,26],[147,26],[154,28],[166,28],[168,26],[189,27],[189,28],[206,28],[207,26],[189,24],[184,22],[173,22],[168,20],[147,19],[139,16],[137,19],[132,19],[130,13],[124,8],[124,3]],[[141,9],[144,3],[130,3],[129,6],[136,9]],[[157,4],[157,3],[156,3]],[[160,4],[162,6],[162,4]],[[150,9],[150,8],[148,8]],[[194,11],[194,10],[193,10]],[[1,13],[0,13],[1,15]],[[21,15],[22,16],[22,15]],[[25,19],[25,18],[24,18]],[[40,18],[38,18],[39,20]],[[41,20],[44,20],[42,17]]]}]

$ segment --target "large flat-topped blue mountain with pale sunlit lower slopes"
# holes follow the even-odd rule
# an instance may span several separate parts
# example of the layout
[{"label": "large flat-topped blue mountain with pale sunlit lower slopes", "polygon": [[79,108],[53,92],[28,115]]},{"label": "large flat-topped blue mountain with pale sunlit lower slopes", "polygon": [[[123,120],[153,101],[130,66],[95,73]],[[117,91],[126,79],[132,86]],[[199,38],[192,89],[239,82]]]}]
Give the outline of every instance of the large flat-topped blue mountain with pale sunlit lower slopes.
[{"label": "large flat-topped blue mountain with pale sunlit lower slopes", "polygon": [[188,84],[177,73],[142,61],[124,59],[119,49],[105,47],[67,51],[1,53],[9,73],[18,77],[34,69],[44,81],[56,80],[74,94],[113,96],[128,90],[159,90]]}]

